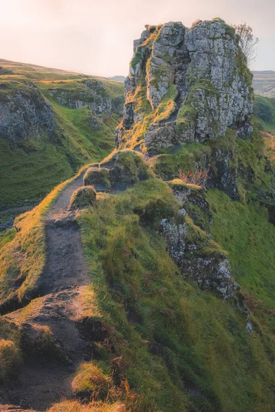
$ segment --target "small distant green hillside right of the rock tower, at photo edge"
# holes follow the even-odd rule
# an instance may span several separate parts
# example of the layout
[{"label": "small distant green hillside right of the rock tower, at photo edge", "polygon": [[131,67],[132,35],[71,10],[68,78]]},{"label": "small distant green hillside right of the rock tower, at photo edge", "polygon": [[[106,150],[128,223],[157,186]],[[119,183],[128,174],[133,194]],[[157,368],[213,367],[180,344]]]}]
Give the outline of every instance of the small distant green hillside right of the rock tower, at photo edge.
[{"label": "small distant green hillside right of the rock tower, at photo edge", "polygon": [[255,95],[254,115],[259,121],[261,130],[275,134],[275,98]]}]

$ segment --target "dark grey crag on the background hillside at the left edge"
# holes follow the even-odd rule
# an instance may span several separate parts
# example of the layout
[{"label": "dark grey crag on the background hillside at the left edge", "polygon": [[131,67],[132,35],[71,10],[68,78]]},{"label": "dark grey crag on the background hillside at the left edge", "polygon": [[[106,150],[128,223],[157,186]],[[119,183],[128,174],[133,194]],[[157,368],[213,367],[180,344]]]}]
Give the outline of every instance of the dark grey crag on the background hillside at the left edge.
[{"label": "dark grey crag on the background hillside at the left edge", "polygon": [[15,90],[6,89],[0,100],[0,137],[13,143],[40,132],[54,132],[54,113],[34,84],[22,84]]}]

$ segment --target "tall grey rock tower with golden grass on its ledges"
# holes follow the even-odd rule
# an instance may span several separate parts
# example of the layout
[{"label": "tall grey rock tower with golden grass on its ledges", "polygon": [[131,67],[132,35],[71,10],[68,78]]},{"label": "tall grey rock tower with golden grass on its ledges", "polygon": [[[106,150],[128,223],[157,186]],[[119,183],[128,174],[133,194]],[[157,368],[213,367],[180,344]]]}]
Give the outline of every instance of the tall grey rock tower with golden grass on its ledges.
[{"label": "tall grey rock tower with golden grass on its ledges", "polygon": [[250,138],[252,76],[238,42],[234,29],[220,19],[190,29],[181,23],[146,26],[134,42],[118,146],[131,137],[126,130],[135,135],[141,122],[146,122],[148,152],[214,141],[227,128]]}]

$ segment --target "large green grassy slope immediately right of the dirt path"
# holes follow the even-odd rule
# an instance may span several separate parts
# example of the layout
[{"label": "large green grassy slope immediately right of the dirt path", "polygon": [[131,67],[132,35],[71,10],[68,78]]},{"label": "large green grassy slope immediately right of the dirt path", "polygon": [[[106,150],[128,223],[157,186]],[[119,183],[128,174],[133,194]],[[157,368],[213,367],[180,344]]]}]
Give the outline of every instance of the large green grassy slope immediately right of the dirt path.
[{"label": "large green grassy slope immediately right of the dirt path", "polygon": [[100,319],[112,331],[102,361],[122,356],[118,371],[140,395],[134,411],[271,412],[270,336],[251,337],[246,314],[184,281],[161,236],[133,213],[155,196],[173,207],[168,185],[152,178],[102,194],[79,218]]}]

